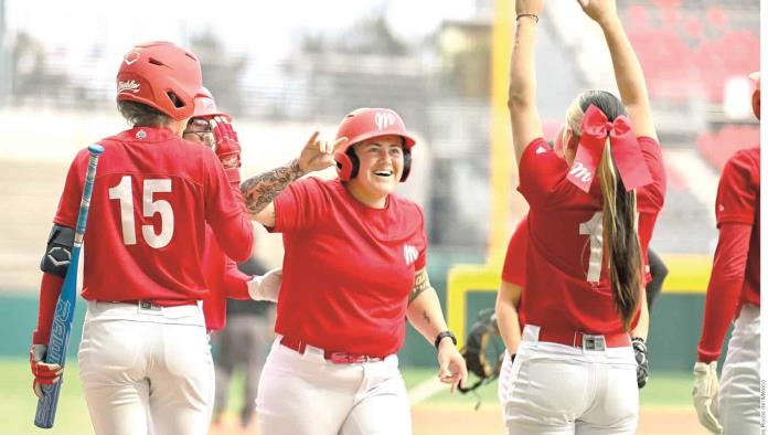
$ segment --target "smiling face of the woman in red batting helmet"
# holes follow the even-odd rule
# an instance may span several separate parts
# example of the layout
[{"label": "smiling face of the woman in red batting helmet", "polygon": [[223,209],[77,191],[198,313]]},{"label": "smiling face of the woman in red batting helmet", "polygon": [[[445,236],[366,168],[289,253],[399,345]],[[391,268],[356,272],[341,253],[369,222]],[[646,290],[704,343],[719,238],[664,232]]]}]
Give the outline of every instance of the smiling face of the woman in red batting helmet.
[{"label": "smiling face of the woman in red batting helmet", "polygon": [[395,135],[380,136],[353,147],[360,160],[360,170],[349,181],[350,190],[361,202],[383,206],[386,197],[395,190],[403,176],[403,138]]}]

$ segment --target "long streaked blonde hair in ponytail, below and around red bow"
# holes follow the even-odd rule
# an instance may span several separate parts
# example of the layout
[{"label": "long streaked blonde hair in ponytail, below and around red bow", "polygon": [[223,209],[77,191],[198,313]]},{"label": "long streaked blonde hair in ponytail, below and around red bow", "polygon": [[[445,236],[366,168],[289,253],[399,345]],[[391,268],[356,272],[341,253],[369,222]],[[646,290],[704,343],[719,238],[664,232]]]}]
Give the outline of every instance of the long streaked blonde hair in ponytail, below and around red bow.
[{"label": "long streaked blonde hair in ponytail, below and around red bow", "polygon": [[[609,120],[626,115],[621,102],[610,93],[590,91],[582,94],[568,108],[567,124],[580,136],[580,124],[589,105],[597,106]],[[636,191],[627,192],[614,161],[610,138],[606,139],[602,159],[597,168],[602,192],[602,243],[607,255],[614,306],[623,329],[630,325],[640,304],[642,259],[638,238]]]}]

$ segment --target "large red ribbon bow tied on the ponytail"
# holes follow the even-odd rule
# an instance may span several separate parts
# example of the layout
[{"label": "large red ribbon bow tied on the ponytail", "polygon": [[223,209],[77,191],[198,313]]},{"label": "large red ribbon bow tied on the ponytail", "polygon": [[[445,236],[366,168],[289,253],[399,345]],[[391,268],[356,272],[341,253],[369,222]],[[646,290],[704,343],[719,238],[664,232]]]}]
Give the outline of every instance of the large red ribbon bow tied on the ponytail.
[{"label": "large red ribbon bow tied on the ponytail", "polygon": [[589,192],[608,137],[614,151],[614,161],[627,191],[653,181],[629,119],[626,116],[619,116],[610,123],[602,110],[594,104],[590,104],[584,113],[582,139],[578,142],[574,165],[568,171],[568,181],[583,191]]}]

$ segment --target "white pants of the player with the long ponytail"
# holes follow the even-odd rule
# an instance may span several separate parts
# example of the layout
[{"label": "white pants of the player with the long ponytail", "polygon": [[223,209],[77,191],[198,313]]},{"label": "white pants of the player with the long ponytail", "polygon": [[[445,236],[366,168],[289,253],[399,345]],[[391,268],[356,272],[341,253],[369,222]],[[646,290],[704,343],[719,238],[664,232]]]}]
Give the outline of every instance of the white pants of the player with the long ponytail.
[{"label": "white pants of the player with the long ponytail", "polygon": [[540,342],[526,325],[514,363],[505,354],[499,400],[510,435],[634,434],[639,393],[631,347],[586,350]]}]

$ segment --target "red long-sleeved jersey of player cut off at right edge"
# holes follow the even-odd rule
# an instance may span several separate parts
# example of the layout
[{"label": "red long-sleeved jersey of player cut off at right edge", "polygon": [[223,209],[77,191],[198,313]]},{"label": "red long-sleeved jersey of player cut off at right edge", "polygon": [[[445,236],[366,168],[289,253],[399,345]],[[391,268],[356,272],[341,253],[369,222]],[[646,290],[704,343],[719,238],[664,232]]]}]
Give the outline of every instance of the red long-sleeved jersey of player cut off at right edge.
[{"label": "red long-sleeved jersey of player cut off at right edge", "polygon": [[698,361],[719,357],[744,304],[760,306],[760,148],[736,152],[723,168],[715,216],[719,238],[706,291]]}]

